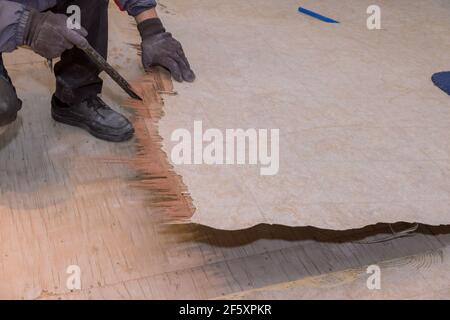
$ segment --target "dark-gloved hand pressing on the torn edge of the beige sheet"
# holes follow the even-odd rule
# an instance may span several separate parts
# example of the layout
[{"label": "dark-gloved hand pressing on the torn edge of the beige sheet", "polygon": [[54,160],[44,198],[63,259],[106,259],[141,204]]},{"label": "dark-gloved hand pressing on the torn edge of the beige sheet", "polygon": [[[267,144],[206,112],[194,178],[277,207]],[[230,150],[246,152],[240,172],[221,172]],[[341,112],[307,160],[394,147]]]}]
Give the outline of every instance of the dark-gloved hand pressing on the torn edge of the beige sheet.
[{"label": "dark-gloved hand pressing on the torn edge of the beige sheet", "polygon": [[166,32],[160,19],[144,20],[138,24],[138,30],[142,37],[142,63],[145,70],[162,66],[179,82],[195,80],[183,47],[172,34]]}]

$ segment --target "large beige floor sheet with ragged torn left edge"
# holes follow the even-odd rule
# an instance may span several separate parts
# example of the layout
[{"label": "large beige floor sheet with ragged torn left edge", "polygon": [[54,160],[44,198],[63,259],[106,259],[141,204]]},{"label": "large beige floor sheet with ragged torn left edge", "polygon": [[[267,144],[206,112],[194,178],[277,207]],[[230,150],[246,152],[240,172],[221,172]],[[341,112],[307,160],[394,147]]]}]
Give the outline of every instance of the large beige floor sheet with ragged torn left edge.
[{"label": "large beige floor sheet with ragged torn left edge", "polygon": [[[279,172],[258,165],[179,165],[195,223],[352,229],[450,223],[450,2],[161,1],[198,79],[165,98],[160,133],[279,129]],[[299,5],[332,17],[327,24]]]}]

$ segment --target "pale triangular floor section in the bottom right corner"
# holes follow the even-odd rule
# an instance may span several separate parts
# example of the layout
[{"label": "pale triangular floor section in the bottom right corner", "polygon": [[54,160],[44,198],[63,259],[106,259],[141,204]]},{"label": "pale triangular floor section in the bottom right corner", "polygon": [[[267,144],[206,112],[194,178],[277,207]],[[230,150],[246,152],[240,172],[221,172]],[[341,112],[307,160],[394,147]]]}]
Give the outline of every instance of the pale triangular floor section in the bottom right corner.
[{"label": "pale triangular floor section in the bottom right corner", "polygon": [[[376,265],[378,288],[367,289],[374,265],[227,296],[227,299],[442,299],[450,298],[450,252],[444,250]],[[368,272],[369,271],[369,272]],[[369,282],[370,283],[370,282]]]}]

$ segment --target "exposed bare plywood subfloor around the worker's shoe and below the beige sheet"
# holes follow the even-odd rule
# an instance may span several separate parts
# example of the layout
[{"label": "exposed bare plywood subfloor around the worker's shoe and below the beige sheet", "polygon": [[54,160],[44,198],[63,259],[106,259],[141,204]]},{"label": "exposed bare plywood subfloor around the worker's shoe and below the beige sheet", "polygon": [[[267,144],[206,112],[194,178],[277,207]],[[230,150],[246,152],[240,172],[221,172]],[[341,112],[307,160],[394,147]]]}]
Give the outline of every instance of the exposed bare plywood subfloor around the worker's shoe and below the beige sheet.
[{"label": "exposed bare plywood subfloor around the worker's shoe and below the beige sheet", "polygon": [[[138,77],[138,58],[123,45],[135,33],[126,16],[115,9],[110,15],[111,61],[127,77]],[[421,226],[410,237],[365,244],[389,236],[389,228],[261,225],[229,232],[163,225],[145,206],[147,193],[131,187],[136,172],[102,161],[133,157],[134,143],[109,144],[54,123],[53,77],[44,61],[21,51],[8,55],[7,65],[24,108],[0,137],[1,299],[216,298],[426,256],[450,244],[447,227]],[[111,81],[105,86],[108,102],[124,100]],[[443,270],[438,262],[432,263]],[[81,291],[65,285],[70,265],[81,268]]]}]

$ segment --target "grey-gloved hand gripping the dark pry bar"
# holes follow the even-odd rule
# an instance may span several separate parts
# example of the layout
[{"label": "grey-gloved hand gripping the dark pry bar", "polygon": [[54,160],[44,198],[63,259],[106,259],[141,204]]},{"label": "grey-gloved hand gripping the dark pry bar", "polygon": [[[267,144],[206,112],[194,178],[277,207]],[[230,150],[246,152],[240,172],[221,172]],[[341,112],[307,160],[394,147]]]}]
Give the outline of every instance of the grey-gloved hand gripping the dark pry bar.
[{"label": "grey-gloved hand gripping the dark pry bar", "polygon": [[67,16],[52,12],[30,10],[23,33],[23,45],[27,45],[37,54],[54,59],[74,46],[86,45],[87,31],[84,28],[67,28]]}]

